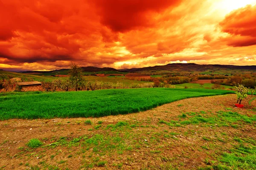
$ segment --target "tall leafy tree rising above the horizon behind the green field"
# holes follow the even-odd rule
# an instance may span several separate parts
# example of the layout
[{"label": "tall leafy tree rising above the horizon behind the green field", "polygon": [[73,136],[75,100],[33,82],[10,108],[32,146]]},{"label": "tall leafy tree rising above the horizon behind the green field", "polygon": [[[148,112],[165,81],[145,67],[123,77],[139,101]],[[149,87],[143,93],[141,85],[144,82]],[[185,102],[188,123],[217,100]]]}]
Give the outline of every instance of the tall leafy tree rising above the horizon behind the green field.
[{"label": "tall leafy tree rising above the horizon behind the green field", "polygon": [[76,87],[76,91],[78,89],[78,85],[83,80],[83,72],[82,68],[76,63],[71,62],[70,72],[69,72],[69,80]]}]

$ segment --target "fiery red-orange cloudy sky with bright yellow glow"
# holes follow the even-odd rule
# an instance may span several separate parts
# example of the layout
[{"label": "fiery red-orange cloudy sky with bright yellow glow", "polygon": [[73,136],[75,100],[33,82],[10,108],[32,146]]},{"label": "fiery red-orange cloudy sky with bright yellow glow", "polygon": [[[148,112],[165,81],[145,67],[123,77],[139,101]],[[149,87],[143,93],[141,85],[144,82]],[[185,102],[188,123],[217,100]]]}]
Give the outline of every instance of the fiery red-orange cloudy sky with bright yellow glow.
[{"label": "fiery red-orange cloudy sky with bright yellow glow", "polygon": [[0,69],[256,65],[256,0],[0,0]]}]

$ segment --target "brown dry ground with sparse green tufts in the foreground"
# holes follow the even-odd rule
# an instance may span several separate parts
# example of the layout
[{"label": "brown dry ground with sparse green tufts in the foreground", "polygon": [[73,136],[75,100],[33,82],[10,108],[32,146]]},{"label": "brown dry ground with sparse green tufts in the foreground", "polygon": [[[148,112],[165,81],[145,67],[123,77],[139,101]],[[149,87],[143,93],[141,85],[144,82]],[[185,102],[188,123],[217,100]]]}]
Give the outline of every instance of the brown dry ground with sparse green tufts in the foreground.
[{"label": "brown dry ground with sparse green tufts in the foreground", "polygon": [[[216,113],[238,112],[250,118],[256,114],[256,101],[251,106],[248,101],[236,108],[235,95],[221,95],[128,115],[0,121],[0,170],[212,168],[223,164],[221,155],[231,153],[239,139],[256,138],[255,122],[225,126]],[[194,115],[217,119],[186,123]],[[44,144],[29,148],[26,143],[32,138]]]}]

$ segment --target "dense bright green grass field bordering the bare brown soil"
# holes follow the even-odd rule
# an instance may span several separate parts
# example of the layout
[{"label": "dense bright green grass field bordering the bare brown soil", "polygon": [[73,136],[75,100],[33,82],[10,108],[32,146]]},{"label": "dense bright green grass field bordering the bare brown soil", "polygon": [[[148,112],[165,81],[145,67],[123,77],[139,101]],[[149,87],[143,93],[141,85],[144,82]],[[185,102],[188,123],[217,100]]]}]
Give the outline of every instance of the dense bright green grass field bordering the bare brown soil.
[{"label": "dense bright green grass field bordering the bare brown soil", "polygon": [[107,89],[81,92],[13,92],[0,96],[0,120],[102,117],[145,111],[185,98],[224,95],[212,89]]}]

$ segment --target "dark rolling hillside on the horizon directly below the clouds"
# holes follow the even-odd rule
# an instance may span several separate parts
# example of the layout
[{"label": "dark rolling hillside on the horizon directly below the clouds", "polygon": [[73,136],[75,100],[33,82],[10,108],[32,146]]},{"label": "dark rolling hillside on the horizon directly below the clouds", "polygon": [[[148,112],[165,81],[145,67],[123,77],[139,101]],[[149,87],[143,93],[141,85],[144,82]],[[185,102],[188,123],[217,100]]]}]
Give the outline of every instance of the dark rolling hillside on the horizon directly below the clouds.
[{"label": "dark rolling hillside on the horizon directly below the clouds", "polygon": [[[191,74],[220,74],[220,75],[232,75],[232,74],[245,74],[256,73],[256,66],[234,66],[234,65],[213,65],[213,64],[195,64],[195,63],[172,63],[164,66],[152,66],[143,68],[132,69],[114,69],[111,67],[94,67],[87,66],[81,67],[84,74],[127,74],[129,72],[137,72],[142,74],[151,75],[164,75],[164,74],[179,74],[179,73],[191,73]],[[37,74],[37,75],[67,75],[69,69],[59,69],[52,71],[26,71],[22,73]]]}]

